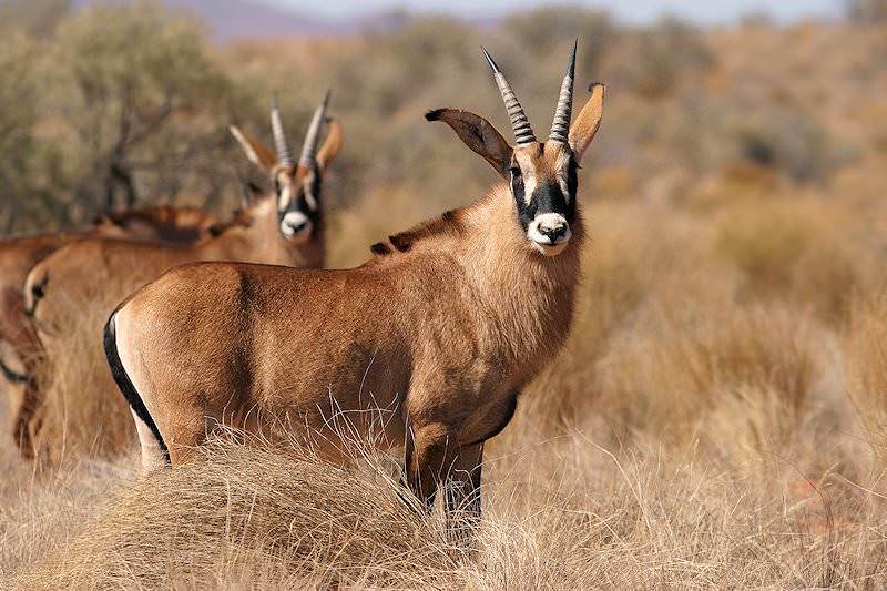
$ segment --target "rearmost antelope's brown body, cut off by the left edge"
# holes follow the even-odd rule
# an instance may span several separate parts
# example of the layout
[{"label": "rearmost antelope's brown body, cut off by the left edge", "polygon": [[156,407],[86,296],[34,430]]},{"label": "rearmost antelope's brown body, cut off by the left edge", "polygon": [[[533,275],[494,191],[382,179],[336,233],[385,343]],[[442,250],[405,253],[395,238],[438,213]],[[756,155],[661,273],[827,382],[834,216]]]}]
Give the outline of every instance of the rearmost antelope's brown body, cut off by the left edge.
[{"label": "rearmost antelope's brown body, cut off by the left edge", "polygon": [[33,324],[24,314],[22,285],[28,271],[62,246],[88,237],[195,242],[210,236],[215,223],[214,216],[201,210],[157,206],[100,217],[92,228],[83,232],[0,240],[0,373],[10,381],[13,438],[22,449],[29,450],[31,446],[27,425],[22,422],[22,403],[28,395],[19,390],[35,387],[33,376],[40,356]]}]

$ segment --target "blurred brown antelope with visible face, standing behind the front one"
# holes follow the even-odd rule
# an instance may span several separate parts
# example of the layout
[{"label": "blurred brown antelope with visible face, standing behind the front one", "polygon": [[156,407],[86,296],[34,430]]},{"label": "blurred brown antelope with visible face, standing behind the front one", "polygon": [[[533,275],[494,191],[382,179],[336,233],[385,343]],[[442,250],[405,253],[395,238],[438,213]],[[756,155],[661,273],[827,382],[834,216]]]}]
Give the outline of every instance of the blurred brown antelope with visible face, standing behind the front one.
[{"label": "blurred brown antelope with visible face, standing behind the front one", "polygon": [[[26,309],[34,318],[49,365],[90,361],[91,357],[79,350],[83,329],[88,330],[90,343],[95,336],[96,356],[101,358],[99,335],[108,315],[132,292],[176,265],[194,261],[247,261],[322,267],[325,228],[320,184],[341,147],[341,129],[330,120],[327,139],[317,150],[328,100],[329,93],[315,110],[298,162],[292,156],[276,100],[272,109],[276,157],[259,142],[232,128],[247,156],[269,172],[275,195],[256,200],[216,236],[176,246],[85,240],[61,248],[34,266],[24,283]],[[88,274],[82,273],[84,268],[89,268]],[[73,328],[74,325],[83,329]],[[81,388],[92,389],[99,396],[114,390],[104,364],[84,370],[89,384],[80,385]],[[112,403],[116,400],[116,396],[111,398]],[[27,408],[39,408],[40,404],[38,396],[35,400],[27,400]],[[31,428],[39,430],[40,426],[32,421]]]}]

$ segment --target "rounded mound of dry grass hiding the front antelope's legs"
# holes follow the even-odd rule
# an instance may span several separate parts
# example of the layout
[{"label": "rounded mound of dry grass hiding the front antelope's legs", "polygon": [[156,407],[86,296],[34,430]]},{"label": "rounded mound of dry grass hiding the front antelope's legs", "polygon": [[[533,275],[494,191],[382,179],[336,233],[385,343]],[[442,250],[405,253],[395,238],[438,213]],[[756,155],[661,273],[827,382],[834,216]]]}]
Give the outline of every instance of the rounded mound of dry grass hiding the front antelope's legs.
[{"label": "rounded mound of dry grass hiding the front antelope's legs", "polygon": [[206,452],[204,465],[110,490],[68,546],[16,584],[440,585],[455,568],[434,521],[400,500],[380,466],[333,468],[295,448]]}]

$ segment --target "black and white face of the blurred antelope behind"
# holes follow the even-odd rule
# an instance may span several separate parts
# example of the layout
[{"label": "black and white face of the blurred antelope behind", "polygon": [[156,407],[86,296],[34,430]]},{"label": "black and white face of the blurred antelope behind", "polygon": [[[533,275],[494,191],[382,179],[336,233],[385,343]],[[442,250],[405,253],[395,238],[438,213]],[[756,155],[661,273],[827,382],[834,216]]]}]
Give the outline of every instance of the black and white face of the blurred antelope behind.
[{"label": "black and white face of the blurred antelope behind", "polygon": [[297,244],[309,242],[320,211],[319,173],[315,170],[299,176],[283,171],[275,177],[274,185],[281,233]]}]

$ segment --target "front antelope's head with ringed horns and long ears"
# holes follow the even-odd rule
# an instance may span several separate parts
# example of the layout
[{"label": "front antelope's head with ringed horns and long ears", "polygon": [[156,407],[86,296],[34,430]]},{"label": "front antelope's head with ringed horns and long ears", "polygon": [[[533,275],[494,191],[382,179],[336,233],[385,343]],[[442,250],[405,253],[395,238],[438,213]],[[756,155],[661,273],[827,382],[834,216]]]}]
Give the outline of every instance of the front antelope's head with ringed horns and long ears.
[{"label": "front antelope's head with ringed horns and long ears", "polygon": [[517,221],[528,244],[544,256],[560,254],[570,242],[570,226],[577,215],[577,171],[598,132],[603,113],[604,86],[592,84],[589,86],[591,98],[570,126],[575,49],[573,44],[554,121],[544,142],[537,141],[514,91],[486,49],[482,49],[483,55],[492,69],[511,120],[514,145],[510,145],[490,122],[475,113],[438,109],[425,115],[428,121],[447,123],[468,147],[483,156],[509,182]]}]

